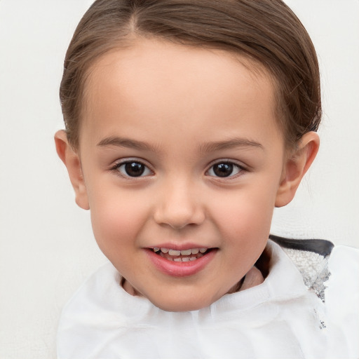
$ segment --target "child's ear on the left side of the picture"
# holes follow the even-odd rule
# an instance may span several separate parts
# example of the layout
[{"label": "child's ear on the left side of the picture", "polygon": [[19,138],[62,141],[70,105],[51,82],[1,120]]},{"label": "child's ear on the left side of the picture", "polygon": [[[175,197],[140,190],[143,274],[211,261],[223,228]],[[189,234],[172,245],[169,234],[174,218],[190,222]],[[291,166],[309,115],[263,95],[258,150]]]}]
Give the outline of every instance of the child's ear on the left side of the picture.
[{"label": "child's ear on the left side of the picture", "polygon": [[77,205],[84,210],[89,210],[90,206],[88,205],[88,196],[79,154],[77,154],[69,144],[65,130],[60,130],[55,133],[55,146],[58,156],[61,158],[61,161],[65,163],[67,172],[69,172],[70,181],[75,190],[75,201]]}]

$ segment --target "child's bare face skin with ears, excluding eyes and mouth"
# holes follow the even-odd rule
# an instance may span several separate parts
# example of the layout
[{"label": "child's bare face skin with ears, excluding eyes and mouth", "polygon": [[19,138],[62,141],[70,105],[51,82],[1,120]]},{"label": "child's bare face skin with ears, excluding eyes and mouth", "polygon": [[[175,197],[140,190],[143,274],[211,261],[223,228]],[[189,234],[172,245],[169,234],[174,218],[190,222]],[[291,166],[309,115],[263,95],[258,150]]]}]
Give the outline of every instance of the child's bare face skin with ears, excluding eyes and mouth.
[{"label": "child's bare face skin with ears, excluding eyes and mouth", "polygon": [[[220,50],[147,39],[93,65],[79,149],[64,131],[55,142],[76,203],[90,209],[96,241],[130,294],[197,310],[251,271],[273,208],[292,200],[319,146],[307,133],[286,149],[273,104],[269,76]],[[123,161],[147,167],[130,177]],[[217,177],[213,165],[228,162],[233,171]],[[149,256],[164,246],[215,251],[200,271],[173,276]],[[262,283],[256,271],[248,278],[245,288]]]}]

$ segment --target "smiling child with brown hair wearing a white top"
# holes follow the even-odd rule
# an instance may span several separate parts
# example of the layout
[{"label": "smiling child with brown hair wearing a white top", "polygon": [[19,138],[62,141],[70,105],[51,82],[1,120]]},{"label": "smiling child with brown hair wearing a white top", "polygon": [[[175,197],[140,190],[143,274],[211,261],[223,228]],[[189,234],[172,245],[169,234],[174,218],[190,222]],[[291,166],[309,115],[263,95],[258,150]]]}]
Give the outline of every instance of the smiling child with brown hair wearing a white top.
[{"label": "smiling child with brown hair wearing a white top", "polygon": [[63,311],[59,358],[358,358],[358,252],[268,240],[321,117],[282,1],[97,0],[60,97],[57,153],[111,263]]}]

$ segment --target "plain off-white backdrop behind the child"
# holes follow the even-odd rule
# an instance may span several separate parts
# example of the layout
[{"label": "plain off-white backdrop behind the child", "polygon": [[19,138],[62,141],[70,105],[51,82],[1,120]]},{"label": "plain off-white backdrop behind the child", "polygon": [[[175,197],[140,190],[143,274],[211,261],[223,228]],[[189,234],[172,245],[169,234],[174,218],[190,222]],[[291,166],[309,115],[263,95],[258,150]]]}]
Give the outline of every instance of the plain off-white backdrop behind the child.
[{"label": "plain off-white backdrop behind the child", "polygon": [[[104,262],[53,134],[62,62],[91,0],[0,0],[0,358],[55,358],[60,311]],[[272,232],[359,247],[359,1],[287,0],[323,82],[320,153]]]}]

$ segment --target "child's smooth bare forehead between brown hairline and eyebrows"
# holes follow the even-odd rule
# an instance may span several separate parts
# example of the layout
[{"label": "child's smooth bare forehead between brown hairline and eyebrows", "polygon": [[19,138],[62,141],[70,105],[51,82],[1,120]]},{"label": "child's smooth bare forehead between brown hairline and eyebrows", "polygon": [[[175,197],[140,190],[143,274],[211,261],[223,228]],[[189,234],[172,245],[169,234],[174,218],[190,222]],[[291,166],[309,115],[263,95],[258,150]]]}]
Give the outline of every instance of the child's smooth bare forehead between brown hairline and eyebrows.
[{"label": "child's smooth bare forehead between brown hairline and eyebrows", "polygon": [[261,116],[262,128],[276,127],[273,81],[262,67],[224,50],[158,40],[100,57],[90,68],[83,104],[81,124],[108,133],[125,122],[133,130],[196,123],[205,131],[209,118],[218,120],[212,127],[228,131],[233,116],[248,124]]}]

